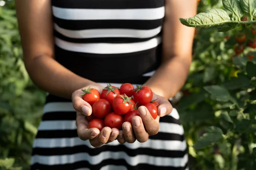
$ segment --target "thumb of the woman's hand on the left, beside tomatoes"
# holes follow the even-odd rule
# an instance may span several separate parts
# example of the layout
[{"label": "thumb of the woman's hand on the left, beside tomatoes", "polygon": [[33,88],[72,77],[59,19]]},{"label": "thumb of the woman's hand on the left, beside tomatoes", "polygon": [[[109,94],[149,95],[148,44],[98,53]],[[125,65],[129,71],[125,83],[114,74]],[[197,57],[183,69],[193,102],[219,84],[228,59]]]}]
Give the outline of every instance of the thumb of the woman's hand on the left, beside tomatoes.
[{"label": "thumb of the woman's hand on the left, beside tomatoes", "polygon": [[82,99],[81,94],[83,94],[83,91],[81,90],[77,90],[72,94],[73,108],[76,111],[83,113],[85,116],[90,116],[92,113],[92,107]]}]

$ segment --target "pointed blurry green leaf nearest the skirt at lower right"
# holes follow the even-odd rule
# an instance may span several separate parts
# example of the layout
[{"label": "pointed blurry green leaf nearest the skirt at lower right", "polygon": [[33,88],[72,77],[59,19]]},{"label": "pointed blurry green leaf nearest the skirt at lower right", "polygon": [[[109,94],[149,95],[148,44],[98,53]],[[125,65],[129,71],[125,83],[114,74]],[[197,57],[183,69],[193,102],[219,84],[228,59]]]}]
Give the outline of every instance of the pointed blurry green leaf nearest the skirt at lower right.
[{"label": "pointed blurry green leaf nearest the skirt at lower right", "polygon": [[219,142],[222,139],[222,130],[219,127],[208,127],[207,133],[205,133],[201,138],[198,139],[194,144],[195,149],[202,149],[208,147],[215,142]]}]

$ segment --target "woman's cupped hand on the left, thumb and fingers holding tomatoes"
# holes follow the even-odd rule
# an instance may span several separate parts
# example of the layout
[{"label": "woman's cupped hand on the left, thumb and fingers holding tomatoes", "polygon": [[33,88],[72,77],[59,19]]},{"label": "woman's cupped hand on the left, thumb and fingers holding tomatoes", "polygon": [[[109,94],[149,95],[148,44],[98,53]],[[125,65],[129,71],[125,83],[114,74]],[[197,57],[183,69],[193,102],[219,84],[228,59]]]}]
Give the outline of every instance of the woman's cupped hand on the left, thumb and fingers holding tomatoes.
[{"label": "woman's cupped hand on the left, thumb and fingers holding tomatoes", "polygon": [[116,128],[104,127],[101,131],[97,128],[88,129],[88,121],[86,116],[90,116],[92,113],[92,107],[89,103],[82,99],[82,89],[95,88],[100,93],[104,88],[101,85],[89,85],[84,88],[78,89],[72,94],[73,107],[76,110],[76,127],[77,134],[81,140],[89,140],[93,147],[101,147],[103,144],[113,142],[119,135],[119,130]]}]

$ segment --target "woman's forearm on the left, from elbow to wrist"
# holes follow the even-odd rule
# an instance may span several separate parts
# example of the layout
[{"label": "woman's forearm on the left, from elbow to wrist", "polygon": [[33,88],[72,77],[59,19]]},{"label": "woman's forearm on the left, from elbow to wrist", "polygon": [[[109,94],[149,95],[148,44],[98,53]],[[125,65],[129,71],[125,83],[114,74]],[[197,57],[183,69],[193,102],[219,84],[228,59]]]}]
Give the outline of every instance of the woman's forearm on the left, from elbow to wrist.
[{"label": "woman's forearm on the left, from elbow to wrist", "polygon": [[35,85],[50,94],[67,99],[71,99],[72,93],[77,89],[96,84],[74,74],[46,55],[25,61],[25,65]]}]

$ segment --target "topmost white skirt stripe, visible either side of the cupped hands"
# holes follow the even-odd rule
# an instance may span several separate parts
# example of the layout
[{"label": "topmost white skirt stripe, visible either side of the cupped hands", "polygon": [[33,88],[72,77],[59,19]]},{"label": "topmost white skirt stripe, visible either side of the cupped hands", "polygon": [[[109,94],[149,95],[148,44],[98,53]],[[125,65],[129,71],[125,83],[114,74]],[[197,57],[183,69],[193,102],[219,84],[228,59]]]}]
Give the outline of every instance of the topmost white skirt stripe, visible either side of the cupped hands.
[{"label": "topmost white skirt stripe, visible either side of the cupped hands", "polygon": [[[118,86],[117,86],[118,87]],[[43,113],[48,113],[48,112],[74,112],[75,109],[73,108],[72,102],[50,102],[44,105],[44,110]],[[54,114],[54,113],[53,113]],[[72,114],[72,113],[71,113]],[[179,113],[175,108],[173,108],[172,113],[170,113],[167,116],[172,116],[175,119],[179,119]]]}]

